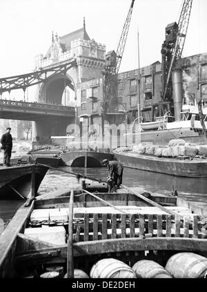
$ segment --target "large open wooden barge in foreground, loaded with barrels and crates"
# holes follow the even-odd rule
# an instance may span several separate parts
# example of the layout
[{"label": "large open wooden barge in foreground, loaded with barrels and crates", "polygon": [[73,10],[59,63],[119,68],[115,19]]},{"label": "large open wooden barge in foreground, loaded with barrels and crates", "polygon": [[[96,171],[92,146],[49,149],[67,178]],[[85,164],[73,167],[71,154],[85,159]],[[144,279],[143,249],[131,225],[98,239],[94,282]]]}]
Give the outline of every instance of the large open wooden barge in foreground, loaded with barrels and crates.
[{"label": "large open wooden barge in foreground, loaded with barrels and crates", "polygon": [[[124,189],[95,194],[80,190],[74,196],[71,191],[51,199],[37,198],[30,206],[19,208],[1,234],[0,277],[44,278],[48,271],[61,271],[50,277],[63,278],[66,271],[77,277],[77,270],[81,270],[82,278],[83,274],[92,278],[137,278],[136,263],[151,260],[159,263],[164,273],[172,255],[177,254],[191,262],[195,258],[197,263],[202,262],[199,272],[192,274],[193,265],[191,270],[189,266],[183,278],[187,274],[189,278],[204,278],[206,215],[205,209],[174,196],[141,195]],[[104,264],[99,264],[103,259]],[[155,263],[148,265],[149,269]],[[106,270],[114,264],[118,269]],[[132,270],[134,264],[136,271]],[[101,273],[95,269],[97,265]],[[183,269],[188,267],[183,264]],[[173,271],[168,273],[166,278],[174,277]]]}]

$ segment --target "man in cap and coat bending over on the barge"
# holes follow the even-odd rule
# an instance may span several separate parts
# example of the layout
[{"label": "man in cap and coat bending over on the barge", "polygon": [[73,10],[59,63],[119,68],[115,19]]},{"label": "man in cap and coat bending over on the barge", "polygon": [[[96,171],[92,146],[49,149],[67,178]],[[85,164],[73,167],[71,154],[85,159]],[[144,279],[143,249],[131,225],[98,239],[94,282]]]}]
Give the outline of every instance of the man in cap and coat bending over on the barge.
[{"label": "man in cap and coat bending over on the barge", "polygon": [[108,181],[113,181],[115,188],[119,188],[122,184],[124,166],[121,162],[116,160],[108,161],[108,159],[103,159],[102,164],[108,167]]}]

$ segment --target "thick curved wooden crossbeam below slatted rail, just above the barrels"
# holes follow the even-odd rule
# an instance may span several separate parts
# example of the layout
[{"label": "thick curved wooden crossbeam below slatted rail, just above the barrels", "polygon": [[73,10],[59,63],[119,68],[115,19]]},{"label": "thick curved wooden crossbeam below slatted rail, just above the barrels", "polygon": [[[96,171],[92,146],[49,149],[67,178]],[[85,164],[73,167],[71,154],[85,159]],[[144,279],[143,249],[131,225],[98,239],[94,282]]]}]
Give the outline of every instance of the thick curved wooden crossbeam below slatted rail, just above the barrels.
[{"label": "thick curved wooden crossbeam below slatted rail, just above the barrels", "polygon": [[[151,238],[120,238],[113,240],[97,240],[91,242],[74,243],[74,256],[101,255],[103,253],[121,253],[122,251],[189,251],[207,252],[206,239],[181,237],[151,237]],[[67,245],[55,248],[41,249],[28,254],[19,255],[16,262],[30,265],[31,262],[41,263],[46,257],[67,257]]]}]

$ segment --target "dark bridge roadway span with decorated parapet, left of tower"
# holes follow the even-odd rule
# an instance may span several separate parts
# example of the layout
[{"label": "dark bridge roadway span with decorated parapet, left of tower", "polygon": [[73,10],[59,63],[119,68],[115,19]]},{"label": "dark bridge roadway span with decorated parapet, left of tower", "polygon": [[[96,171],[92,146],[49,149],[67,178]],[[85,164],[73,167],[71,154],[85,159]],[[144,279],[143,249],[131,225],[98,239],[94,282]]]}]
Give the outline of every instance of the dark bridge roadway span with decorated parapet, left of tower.
[{"label": "dark bridge roadway span with decorated parapet, left of tower", "polygon": [[46,117],[75,117],[75,107],[0,99],[1,119],[38,121]]}]

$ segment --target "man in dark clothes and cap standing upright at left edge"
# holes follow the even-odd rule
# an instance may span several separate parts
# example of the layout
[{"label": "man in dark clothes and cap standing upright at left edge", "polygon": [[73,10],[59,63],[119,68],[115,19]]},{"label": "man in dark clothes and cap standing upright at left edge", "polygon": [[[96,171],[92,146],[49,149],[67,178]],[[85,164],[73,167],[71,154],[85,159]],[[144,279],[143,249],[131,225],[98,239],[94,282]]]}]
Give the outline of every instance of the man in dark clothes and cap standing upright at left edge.
[{"label": "man in dark clothes and cap standing upright at left edge", "polygon": [[12,129],[10,127],[6,128],[6,133],[1,136],[1,149],[4,150],[3,153],[3,164],[6,166],[10,166],[10,158],[12,155],[12,135],[10,131]]}]

